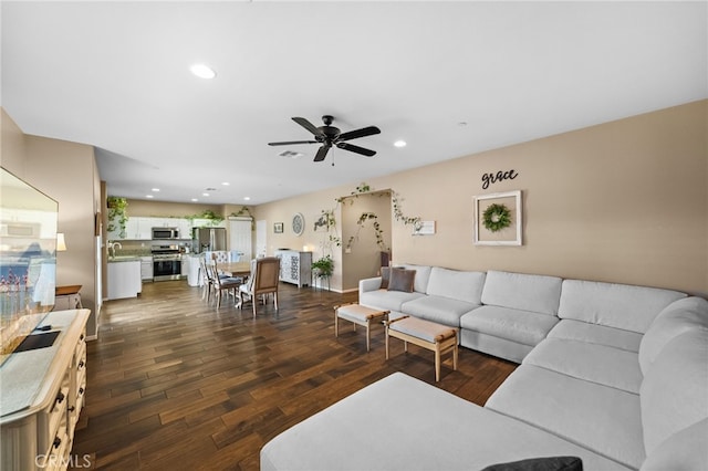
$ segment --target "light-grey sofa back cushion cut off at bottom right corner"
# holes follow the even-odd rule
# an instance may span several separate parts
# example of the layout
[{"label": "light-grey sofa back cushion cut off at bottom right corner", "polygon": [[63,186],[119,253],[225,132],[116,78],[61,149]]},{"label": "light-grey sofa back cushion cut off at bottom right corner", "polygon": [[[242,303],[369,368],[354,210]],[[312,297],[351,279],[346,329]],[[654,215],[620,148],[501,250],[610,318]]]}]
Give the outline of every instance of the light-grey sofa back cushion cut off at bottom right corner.
[{"label": "light-grey sofa back cushion cut off at bottom right corner", "polygon": [[708,419],[674,433],[647,454],[641,471],[708,470]]}]

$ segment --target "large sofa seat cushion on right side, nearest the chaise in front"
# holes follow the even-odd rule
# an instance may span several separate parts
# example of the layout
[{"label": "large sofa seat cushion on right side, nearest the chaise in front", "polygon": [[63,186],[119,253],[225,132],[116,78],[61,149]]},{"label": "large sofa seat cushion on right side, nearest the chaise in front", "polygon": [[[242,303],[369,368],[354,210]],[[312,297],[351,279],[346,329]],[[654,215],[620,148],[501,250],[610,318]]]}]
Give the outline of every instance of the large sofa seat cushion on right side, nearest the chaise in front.
[{"label": "large sofa seat cushion on right side, nearest the chaise in front", "polygon": [[645,458],[635,394],[521,365],[485,407],[582,443],[629,468],[638,469]]}]

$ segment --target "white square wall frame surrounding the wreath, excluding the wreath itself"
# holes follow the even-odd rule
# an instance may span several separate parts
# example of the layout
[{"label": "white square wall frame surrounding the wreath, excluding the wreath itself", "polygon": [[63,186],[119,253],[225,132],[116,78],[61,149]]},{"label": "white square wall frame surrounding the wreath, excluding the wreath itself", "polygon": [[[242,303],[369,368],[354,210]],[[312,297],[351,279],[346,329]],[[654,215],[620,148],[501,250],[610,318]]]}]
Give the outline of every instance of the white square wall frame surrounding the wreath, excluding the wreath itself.
[{"label": "white square wall frame surrounding the wreath, excluding the wreath itself", "polygon": [[[497,230],[486,227],[485,212],[492,205],[508,211],[509,226]],[[522,245],[521,190],[476,196],[473,206],[476,245]]]}]

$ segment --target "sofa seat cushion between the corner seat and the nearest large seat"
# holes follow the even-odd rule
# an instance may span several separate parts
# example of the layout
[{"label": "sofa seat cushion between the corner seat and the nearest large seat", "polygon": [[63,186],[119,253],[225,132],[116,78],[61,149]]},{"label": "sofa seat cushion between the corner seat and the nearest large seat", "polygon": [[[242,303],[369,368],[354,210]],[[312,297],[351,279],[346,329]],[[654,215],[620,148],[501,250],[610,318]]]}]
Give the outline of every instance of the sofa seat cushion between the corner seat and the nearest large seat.
[{"label": "sofa seat cushion between the corner seat and the nearest large seat", "polygon": [[643,379],[636,353],[562,338],[544,339],[523,364],[632,394],[639,394]]}]

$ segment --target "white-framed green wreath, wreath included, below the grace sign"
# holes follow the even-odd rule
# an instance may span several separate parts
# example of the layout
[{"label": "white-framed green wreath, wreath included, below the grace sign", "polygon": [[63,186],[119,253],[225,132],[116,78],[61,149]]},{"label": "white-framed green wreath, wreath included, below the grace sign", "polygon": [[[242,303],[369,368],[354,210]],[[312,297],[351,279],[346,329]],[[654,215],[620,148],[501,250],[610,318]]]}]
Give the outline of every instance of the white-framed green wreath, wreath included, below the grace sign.
[{"label": "white-framed green wreath, wreath included, below the grace sign", "polygon": [[475,244],[521,245],[521,190],[475,197]]}]

